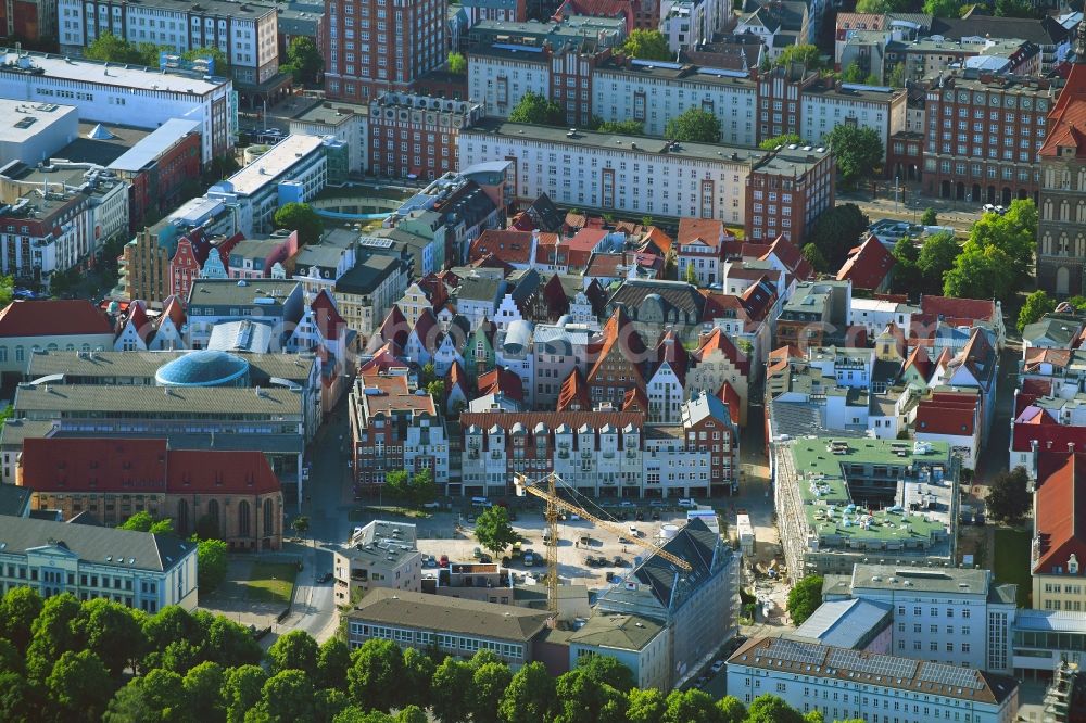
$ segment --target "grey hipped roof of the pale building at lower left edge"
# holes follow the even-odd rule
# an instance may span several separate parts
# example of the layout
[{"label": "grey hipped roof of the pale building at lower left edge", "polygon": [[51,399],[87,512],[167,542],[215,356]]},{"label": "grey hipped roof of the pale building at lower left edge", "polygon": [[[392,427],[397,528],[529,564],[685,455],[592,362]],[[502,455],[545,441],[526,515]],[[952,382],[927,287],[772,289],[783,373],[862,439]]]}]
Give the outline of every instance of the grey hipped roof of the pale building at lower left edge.
[{"label": "grey hipped roof of the pale building at lower left edge", "polygon": [[0,551],[23,554],[50,541],[79,559],[118,568],[162,572],[179,563],[195,545],[174,535],[152,535],[113,528],[47,520],[0,518]]}]

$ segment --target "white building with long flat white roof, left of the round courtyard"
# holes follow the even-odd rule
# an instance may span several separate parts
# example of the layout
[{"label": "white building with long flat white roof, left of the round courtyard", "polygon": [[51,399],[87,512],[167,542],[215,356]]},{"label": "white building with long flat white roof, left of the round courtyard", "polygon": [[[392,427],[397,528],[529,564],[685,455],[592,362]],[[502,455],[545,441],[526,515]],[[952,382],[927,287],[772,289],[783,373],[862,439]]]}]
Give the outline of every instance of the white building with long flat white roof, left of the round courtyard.
[{"label": "white building with long flat white roof, left of the round courtyard", "polygon": [[328,182],[325,139],[292,135],[238,173],[207,189],[207,198],[238,210],[238,231],[270,233],[272,217],[289,202],[303,203]]}]

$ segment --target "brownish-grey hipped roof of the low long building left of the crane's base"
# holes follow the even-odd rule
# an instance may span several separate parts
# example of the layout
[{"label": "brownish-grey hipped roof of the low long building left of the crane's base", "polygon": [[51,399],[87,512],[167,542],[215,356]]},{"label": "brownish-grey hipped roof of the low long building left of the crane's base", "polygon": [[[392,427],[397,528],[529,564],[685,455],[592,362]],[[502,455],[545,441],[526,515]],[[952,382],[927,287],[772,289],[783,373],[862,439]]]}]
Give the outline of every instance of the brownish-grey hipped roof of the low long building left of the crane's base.
[{"label": "brownish-grey hipped roof of the low long building left of the crane's base", "polygon": [[367,593],[348,618],[527,643],[546,627],[547,616],[512,605],[378,587]]}]

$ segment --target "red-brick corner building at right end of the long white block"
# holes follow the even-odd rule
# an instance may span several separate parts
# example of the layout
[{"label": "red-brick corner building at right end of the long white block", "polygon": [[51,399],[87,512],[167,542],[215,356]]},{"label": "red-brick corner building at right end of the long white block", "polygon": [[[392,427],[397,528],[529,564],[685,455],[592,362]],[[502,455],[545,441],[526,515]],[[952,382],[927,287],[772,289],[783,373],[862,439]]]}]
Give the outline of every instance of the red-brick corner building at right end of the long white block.
[{"label": "red-brick corner building at right end of the long white block", "polygon": [[833,208],[837,166],[825,148],[788,145],[755,165],[746,185],[746,237],[783,236],[803,244],[822,212]]}]

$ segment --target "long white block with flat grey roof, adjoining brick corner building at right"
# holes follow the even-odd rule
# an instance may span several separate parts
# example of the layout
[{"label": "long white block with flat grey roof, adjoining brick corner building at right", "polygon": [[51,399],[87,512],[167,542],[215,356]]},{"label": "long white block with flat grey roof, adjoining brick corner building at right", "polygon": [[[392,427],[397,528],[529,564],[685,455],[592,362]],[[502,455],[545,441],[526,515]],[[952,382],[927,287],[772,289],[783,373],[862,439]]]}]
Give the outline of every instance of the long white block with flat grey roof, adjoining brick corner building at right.
[{"label": "long white block with flat grey roof, adjoining brick corner building at right", "polygon": [[512,161],[514,195],[655,217],[744,221],[746,178],[766,152],[483,119],[460,131],[460,164]]}]

